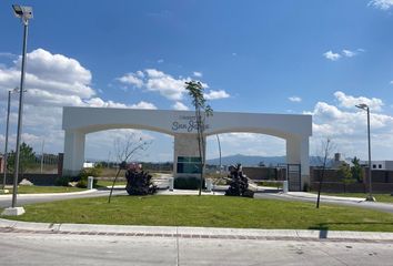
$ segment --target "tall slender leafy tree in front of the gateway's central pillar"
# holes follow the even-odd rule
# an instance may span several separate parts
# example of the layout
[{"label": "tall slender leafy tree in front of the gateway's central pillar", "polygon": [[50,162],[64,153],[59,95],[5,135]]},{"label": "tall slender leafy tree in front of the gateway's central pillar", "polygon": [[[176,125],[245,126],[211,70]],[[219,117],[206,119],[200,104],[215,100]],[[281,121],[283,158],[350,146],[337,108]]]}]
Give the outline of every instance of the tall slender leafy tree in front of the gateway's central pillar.
[{"label": "tall slender leafy tree in front of the gateway's central pillar", "polygon": [[195,122],[196,122],[196,139],[198,139],[198,151],[200,156],[200,186],[199,186],[199,195],[202,193],[203,185],[203,170],[205,165],[205,139],[203,135],[205,129],[205,117],[213,115],[213,110],[209,104],[206,104],[206,100],[203,95],[203,85],[199,81],[190,81],[185,82],[185,90],[189,92],[189,95],[192,99],[192,105],[195,108]]}]

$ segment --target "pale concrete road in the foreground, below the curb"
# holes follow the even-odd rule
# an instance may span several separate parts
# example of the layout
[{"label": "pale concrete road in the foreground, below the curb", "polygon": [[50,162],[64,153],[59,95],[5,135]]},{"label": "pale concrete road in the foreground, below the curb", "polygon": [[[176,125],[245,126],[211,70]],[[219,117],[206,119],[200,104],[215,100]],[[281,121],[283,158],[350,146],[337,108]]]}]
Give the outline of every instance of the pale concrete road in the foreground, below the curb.
[{"label": "pale concrete road in the foreground, below the curb", "polygon": [[0,233],[1,265],[392,265],[392,243]]}]

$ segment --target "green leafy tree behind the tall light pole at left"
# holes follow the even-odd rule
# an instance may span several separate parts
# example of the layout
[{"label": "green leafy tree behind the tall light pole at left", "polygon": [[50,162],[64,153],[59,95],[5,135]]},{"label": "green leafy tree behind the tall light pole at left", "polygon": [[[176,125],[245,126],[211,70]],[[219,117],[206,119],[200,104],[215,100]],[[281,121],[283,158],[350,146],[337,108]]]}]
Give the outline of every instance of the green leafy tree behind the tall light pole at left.
[{"label": "green leafy tree behind the tall light pole at left", "polygon": [[[24,142],[20,145],[20,154],[19,154],[19,173],[23,177],[26,171],[32,166],[36,162],[36,153],[33,149],[26,144]],[[7,160],[7,168],[10,172],[14,172],[14,163],[16,163],[16,152],[11,151],[8,155]]]}]

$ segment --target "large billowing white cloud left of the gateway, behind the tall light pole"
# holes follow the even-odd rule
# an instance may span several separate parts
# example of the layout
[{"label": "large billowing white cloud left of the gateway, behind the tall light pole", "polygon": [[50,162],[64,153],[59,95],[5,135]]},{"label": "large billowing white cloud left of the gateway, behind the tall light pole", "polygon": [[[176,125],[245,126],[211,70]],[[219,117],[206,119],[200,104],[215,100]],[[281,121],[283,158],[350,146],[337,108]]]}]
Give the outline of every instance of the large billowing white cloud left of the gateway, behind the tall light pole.
[{"label": "large billowing white cloud left of the gateway, behind the tall light pole", "polygon": [[[52,54],[43,49],[37,49],[28,53],[27,57],[23,140],[36,145],[37,151],[40,151],[40,141],[38,140],[42,140],[42,137],[46,139],[46,143],[51,144],[48,145],[50,149],[48,152],[62,151],[61,116],[64,105],[157,109],[154,104],[143,101],[135,104],[124,104],[95,96],[97,92],[91,86],[91,72],[75,59]],[[135,78],[140,78],[142,74],[137,72]],[[6,116],[8,90],[18,86],[19,82],[20,58],[11,66],[0,65],[0,121]],[[11,127],[17,124],[16,103],[17,101],[12,100]],[[0,123],[0,129],[3,129],[3,124]],[[14,135],[11,134],[10,143],[13,142]],[[1,145],[3,142],[0,143]]]}]

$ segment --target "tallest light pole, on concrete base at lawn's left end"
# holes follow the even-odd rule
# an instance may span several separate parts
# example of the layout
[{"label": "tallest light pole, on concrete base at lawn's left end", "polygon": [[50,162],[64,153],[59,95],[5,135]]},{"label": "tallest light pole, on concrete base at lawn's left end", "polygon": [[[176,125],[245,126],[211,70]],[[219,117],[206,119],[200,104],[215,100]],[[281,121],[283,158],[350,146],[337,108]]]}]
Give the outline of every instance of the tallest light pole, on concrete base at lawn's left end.
[{"label": "tallest light pole, on concrete base at lawn's left end", "polygon": [[23,207],[17,207],[17,192],[18,192],[18,175],[19,175],[19,156],[20,156],[20,136],[22,132],[22,114],[23,114],[23,93],[24,93],[24,73],[26,73],[26,53],[27,53],[27,41],[28,41],[28,28],[29,19],[32,19],[32,8],[22,7],[19,4],[12,4],[14,16],[20,18],[23,24],[23,50],[22,50],[22,66],[20,75],[20,88],[19,88],[19,113],[18,113],[18,131],[17,131],[17,147],[16,147],[16,163],[14,163],[14,175],[13,175],[13,190],[12,190],[12,206],[6,208],[3,214],[6,215],[21,215],[24,213]]}]

